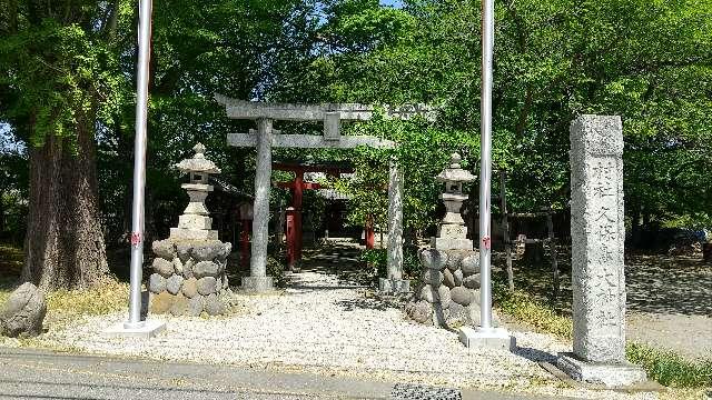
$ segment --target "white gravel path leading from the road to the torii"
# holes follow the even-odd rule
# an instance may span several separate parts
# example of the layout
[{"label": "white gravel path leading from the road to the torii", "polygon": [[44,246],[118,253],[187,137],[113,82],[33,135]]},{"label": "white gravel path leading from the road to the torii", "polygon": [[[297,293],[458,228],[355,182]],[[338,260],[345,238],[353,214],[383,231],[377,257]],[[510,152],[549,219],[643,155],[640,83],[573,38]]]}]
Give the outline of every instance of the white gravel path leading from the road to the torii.
[{"label": "white gravel path leading from the road to the torii", "polygon": [[[570,351],[546,334],[517,332],[522,348],[466,349],[454,332],[425,327],[386,307],[370,291],[335,276],[294,276],[291,289],[273,296],[237,296],[236,313],[224,318],[174,318],[151,340],[101,334],[126,313],[86,318],[42,337],[48,346],[82,352],[240,367],[347,374],[459,388],[494,388],[576,398],[654,398],[565,389],[536,363]],[[7,343],[6,343],[7,344]]]}]

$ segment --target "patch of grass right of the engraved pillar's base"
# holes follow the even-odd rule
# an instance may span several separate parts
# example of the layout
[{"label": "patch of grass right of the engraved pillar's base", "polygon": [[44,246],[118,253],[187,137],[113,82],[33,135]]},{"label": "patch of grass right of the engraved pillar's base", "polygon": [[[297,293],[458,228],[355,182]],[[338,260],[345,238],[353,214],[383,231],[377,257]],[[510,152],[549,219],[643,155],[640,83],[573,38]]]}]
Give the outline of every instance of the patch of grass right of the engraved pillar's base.
[{"label": "patch of grass right of the engraved pillar's base", "polygon": [[666,387],[712,387],[712,360],[690,361],[641,343],[627,343],[625,354],[629,361],[643,367],[649,378]]}]

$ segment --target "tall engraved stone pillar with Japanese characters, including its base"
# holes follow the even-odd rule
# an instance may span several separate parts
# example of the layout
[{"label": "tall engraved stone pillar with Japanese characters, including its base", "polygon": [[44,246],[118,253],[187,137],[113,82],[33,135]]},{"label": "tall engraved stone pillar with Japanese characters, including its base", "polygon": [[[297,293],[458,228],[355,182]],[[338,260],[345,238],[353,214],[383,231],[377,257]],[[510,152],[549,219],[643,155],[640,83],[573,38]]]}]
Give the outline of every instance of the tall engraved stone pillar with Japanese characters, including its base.
[{"label": "tall engraved stone pillar with Japanese characters, including its base", "polygon": [[625,360],[621,118],[576,119],[570,157],[574,352],[557,363],[577,380],[631,384],[645,372]]}]

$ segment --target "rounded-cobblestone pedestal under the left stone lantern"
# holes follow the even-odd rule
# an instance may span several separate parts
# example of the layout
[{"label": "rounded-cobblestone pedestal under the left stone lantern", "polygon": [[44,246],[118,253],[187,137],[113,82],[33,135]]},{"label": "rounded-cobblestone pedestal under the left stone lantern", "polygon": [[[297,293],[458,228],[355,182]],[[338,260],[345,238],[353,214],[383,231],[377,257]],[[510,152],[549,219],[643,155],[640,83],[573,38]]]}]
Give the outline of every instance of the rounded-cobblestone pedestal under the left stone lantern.
[{"label": "rounded-cobblestone pedestal under the left stone lantern", "polygon": [[219,240],[154,242],[149,277],[150,311],[174,316],[226,313],[230,290],[226,274],[231,244]]}]

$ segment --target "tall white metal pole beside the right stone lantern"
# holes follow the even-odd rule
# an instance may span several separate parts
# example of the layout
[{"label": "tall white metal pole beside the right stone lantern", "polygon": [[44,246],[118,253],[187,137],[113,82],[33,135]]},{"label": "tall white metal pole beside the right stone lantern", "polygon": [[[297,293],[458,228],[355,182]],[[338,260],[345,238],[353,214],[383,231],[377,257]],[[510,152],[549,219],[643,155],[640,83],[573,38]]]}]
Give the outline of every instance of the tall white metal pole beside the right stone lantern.
[{"label": "tall white metal pole beside the right stone lantern", "polygon": [[482,1],[482,123],[479,166],[479,328],[492,328],[491,184],[492,184],[492,58],[494,49],[494,0]]}]

